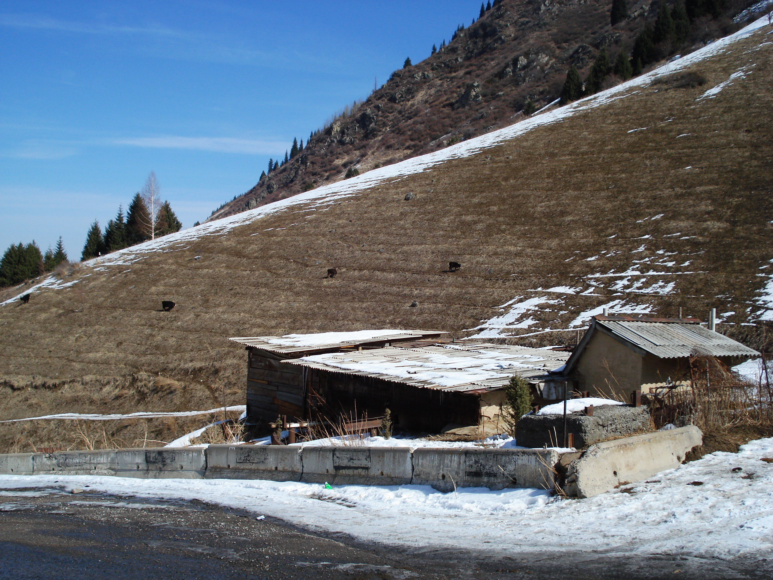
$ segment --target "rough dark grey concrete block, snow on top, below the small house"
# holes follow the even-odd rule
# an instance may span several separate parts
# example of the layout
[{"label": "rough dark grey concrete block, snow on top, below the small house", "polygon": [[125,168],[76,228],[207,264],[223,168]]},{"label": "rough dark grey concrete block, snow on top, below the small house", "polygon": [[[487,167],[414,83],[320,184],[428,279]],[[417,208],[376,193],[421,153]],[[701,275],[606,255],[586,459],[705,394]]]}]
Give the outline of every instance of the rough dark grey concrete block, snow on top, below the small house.
[{"label": "rough dark grey concrete block, snow on top, below the small house", "polygon": [[[630,405],[602,405],[593,415],[567,415],[567,432],[574,433],[574,447],[581,449],[608,438],[625,437],[652,430],[649,408]],[[523,447],[564,445],[564,415],[526,415],[516,425],[516,442]]]}]

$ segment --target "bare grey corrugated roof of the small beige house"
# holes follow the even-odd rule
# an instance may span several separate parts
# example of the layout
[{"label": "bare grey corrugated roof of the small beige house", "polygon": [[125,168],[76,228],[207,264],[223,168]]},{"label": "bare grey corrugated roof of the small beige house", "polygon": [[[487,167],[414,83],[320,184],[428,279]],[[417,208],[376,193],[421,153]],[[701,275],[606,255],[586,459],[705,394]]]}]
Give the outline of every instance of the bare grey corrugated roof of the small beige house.
[{"label": "bare grey corrugated roof of the small beige house", "polygon": [[758,355],[735,340],[690,322],[600,320],[594,323],[662,359],[690,356],[750,357]]}]

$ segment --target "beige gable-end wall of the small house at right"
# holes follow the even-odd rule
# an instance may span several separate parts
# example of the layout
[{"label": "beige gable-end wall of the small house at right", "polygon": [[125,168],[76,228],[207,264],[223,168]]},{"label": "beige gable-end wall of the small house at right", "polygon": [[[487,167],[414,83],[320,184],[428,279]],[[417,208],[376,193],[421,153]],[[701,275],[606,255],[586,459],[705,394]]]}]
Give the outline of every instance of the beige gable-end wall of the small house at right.
[{"label": "beige gable-end wall of the small house at right", "polygon": [[577,386],[591,397],[628,397],[641,387],[643,360],[608,334],[595,332],[577,361]]}]

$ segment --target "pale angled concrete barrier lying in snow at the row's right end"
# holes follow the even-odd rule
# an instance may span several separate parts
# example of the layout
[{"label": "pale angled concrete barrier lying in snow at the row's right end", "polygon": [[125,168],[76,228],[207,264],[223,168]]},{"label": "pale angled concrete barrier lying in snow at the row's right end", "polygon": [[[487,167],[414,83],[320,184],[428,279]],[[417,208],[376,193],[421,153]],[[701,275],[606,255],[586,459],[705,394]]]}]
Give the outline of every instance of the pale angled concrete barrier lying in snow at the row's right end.
[{"label": "pale angled concrete barrier lying in snow at the row's right end", "polygon": [[569,496],[592,497],[647,479],[679,467],[686,453],[702,442],[700,429],[689,425],[596,443],[570,462],[564,491]]}]

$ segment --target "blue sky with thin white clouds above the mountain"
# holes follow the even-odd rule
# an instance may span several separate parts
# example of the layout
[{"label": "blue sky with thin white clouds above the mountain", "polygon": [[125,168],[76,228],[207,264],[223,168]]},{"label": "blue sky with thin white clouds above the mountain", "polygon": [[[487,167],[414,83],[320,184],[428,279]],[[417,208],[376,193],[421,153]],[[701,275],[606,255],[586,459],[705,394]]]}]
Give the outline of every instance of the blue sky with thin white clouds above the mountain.
[{"label": "blue sky with thin white clouds above the mountain", "polygon": [[189,227],[479,2],[0,3],[0,251],[80,258],[155,171]]}]

